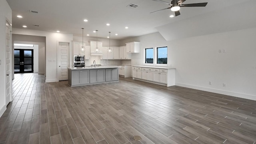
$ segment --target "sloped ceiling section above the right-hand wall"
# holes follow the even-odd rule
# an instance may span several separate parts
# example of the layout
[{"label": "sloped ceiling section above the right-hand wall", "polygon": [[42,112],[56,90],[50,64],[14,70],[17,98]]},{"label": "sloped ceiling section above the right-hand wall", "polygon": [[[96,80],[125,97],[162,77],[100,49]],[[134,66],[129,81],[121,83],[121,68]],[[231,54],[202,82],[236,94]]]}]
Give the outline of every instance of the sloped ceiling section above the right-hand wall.
[{"label": "sloped ceiling section above the right-hand wall", "polygon": [[256,0],[234,4],[214,12],[158,26],[167,40],[202,36],[256,27]]}]

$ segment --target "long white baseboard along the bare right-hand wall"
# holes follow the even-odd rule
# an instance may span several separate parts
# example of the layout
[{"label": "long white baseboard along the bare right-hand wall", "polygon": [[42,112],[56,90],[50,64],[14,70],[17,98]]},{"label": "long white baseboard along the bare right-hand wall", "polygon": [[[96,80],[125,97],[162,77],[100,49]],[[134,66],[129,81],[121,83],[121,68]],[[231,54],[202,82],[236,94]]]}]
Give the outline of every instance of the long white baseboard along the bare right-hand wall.
[{"label": "long white baseboard along the bare right-hand wall", "polygon": [[182,87],[186,87],[186,88],[193,88],[196,90],[203,90],[206,92],[214,92],[217,94],[225,94],[228,96],[235,96],[238,98],[246,98],[249,100],[256,100],[256,96],[254,95],[250,95],[250,94],[241,94],[238,92],[230,92],[230,91],[225,91],[225,90],[218,90],[218,89],[214,89],[214,88],[205,88],[205,87],[200,87],[200,86],[194,86],[194,85],[189,85],[189,84],[182,84],[182,83],[175,83],[176,86],[182,86]]}]

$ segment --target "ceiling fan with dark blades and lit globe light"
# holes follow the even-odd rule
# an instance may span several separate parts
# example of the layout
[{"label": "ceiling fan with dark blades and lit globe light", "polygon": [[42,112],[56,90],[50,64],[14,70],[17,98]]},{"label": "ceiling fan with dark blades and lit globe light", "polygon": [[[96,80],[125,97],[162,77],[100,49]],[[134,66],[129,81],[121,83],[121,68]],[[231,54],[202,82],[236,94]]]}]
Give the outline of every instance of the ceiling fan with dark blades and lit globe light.
[{"label": "ceiling fan with dark blades and lit globe light", "polygon": [[[194,3],[194,4],[182,4],[183,2],[185,2],[186,0],[172,0],[171,3],[169,2],[165,2],[164,0],[154,0],[156,2],[163,2],[165,4],[168,4],[170,5],[170,9],[171,11],[175,12],[175,16],[178,16],[180,15],[180,7],[198,7],[198,6],[206,6],[206,4],[208,2],[203,2],[203,3]],[[169,9],[169,8],[164,8],[162,10],[166,10],[166,9]],[[160,10],[157,10],[157,11],[154,11],[154,12],[158,12]],[[153,12],[150,12],[150,14],[153,13]]]}]

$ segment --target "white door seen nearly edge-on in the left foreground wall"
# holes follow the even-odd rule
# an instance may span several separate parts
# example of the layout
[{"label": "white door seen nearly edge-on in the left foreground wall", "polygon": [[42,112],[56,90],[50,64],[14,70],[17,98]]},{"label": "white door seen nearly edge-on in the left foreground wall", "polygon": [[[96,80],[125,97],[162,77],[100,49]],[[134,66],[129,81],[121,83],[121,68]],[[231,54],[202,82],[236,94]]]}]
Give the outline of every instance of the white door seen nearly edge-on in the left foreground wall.
[{"label": "white door seen nearly edge-on in the left foreground wall", "polygon": [[6,105],[12,101],[12,71],[11,71],[11,26],[6,21]]}]

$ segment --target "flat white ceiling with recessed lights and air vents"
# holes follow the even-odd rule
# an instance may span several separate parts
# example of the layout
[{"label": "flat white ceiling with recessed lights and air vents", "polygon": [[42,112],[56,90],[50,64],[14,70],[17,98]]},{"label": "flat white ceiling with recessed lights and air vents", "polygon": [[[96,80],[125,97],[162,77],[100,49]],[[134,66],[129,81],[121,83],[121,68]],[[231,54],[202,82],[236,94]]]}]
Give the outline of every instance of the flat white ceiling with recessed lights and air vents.
[{"label": "flat white ceiling with recessed lights and air vents", "polygon": [[[171,1],[171,0],[166,0]],[[163,10],[168,5],[153,0],[7,0],[12,9],[12,27],[43,30],[90,37],[96,37],[92,31],[98,30],[98,37],[106,38],[111,32],[112,39],[124,39],[157,32],[157,27],[171,23],[192,19],[192,17],[211,13],[246,3],[250,0],[186,0],[184,4],[208,2],[206,7],[181,8],[180,16],[170,18],[174,12]],[[129,4],[138,4],[137,8],[127,8]],[[36,10],[39,13],[30,13]],[[17,18],[22,15],[23,18]],[[87,19],[88,22],[83,20]],[[106,26],[109,23],[110,26]],[[39,27],[33,24],[40,25]],[[128,29],[125,27],[128,26]],[[115,36],[114,34],[118,34]]]}]

